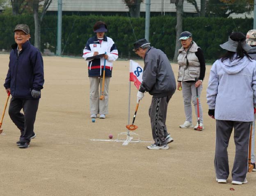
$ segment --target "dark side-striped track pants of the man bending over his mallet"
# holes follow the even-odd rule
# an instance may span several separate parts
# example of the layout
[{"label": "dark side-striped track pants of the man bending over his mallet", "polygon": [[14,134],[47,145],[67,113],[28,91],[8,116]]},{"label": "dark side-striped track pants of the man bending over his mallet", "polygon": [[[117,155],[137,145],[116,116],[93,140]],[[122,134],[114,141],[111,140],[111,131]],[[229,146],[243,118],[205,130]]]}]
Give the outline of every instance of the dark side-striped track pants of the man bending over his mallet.
[{"label": "dark side-striped track pants of the man bending over his mallet", "polygon": [[165,125],[167,107],[171,95],[152,98],[151,105],[149,107],[149,117],[151,121],[151,129],[155,144],[158,146],[166,145],[165,138],[169,134]]}]

